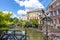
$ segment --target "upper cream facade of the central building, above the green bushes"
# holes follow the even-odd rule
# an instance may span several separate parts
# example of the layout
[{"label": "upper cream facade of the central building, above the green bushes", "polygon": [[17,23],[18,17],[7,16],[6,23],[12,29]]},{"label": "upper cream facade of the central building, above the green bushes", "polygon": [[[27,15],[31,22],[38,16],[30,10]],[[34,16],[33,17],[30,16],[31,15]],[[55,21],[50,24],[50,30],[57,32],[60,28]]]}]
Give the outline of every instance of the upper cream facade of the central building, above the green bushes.
[{"label": "upper cream facade of the central building, above the green bushes", "polygon": [[39,19],[40,11],[27,12],[27,20]]}]

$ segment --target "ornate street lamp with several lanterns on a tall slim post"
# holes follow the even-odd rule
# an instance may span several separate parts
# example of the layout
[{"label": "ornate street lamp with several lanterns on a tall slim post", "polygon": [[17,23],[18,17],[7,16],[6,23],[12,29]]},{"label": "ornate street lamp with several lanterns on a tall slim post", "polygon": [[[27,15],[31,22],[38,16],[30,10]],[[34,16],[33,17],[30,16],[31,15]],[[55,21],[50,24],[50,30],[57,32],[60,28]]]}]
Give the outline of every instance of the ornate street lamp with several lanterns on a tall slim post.
[{"label": "ornate street lamp with several lanterns on a tall slim post", "polygon": [[43,21],[43,25],[46,26],[46,40],[48,40],[48,25],[50,25],[52,19],[50,15],[45,14],[44,10],[42,10],[41,19]]}]

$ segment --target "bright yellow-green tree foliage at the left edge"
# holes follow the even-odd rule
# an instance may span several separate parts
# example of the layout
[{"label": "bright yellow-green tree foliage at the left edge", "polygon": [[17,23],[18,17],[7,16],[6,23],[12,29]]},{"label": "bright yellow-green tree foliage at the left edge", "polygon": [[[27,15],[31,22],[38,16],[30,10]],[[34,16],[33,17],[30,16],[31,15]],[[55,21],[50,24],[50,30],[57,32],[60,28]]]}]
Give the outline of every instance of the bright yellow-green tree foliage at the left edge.
[{"label": "bright yellow-green tree foliage at the left edge", "polygon": [[8,13],[3,13],[2,11],[0,11],[0,28],[2,27],[9,27],[10,24],[12,24],[12,22],[10,22],[10,16],[12,14],[10,12]]}]

